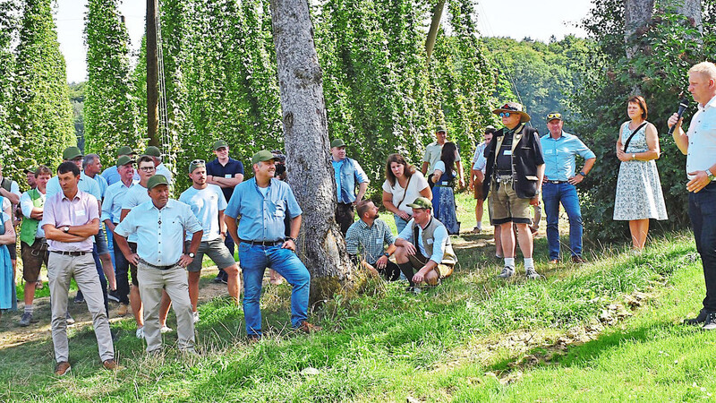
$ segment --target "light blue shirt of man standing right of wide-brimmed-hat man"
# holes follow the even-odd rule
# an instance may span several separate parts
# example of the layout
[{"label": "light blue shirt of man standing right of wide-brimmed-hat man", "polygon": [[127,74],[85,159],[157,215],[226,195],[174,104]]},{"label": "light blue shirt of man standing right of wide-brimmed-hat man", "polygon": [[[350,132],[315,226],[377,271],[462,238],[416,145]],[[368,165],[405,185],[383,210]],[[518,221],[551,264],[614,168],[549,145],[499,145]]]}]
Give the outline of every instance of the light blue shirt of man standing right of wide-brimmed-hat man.
[{"label": "light blue shirt of man standing right of wide-brimmed-hat man", "polygon": [[577,154],[583,159],[596,158],[577,136],[564,131],[557,140],[546,134],[540,138],[540,142],[544,156],[544,176],[550,181],[566,181],[575,176]]}]

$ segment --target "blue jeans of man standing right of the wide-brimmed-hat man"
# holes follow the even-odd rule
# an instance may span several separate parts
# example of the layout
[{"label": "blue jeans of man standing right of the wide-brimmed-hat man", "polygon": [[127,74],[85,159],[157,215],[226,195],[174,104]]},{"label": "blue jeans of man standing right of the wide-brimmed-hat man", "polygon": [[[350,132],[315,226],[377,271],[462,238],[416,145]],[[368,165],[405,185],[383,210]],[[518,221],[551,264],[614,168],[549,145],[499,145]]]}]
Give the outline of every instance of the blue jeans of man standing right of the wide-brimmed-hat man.
[{"label": "blue jeans of man standing right of the wide-brimmed-hat man", "polygon": [[574,184],[542,185],[542,201],[547,214],[547,244],[550,247],[550,260],[559,259],[559,202],[567,211],[569,218],[569,247],[572,256],[582,256],[582,210],[579,209],[579,197]]}]

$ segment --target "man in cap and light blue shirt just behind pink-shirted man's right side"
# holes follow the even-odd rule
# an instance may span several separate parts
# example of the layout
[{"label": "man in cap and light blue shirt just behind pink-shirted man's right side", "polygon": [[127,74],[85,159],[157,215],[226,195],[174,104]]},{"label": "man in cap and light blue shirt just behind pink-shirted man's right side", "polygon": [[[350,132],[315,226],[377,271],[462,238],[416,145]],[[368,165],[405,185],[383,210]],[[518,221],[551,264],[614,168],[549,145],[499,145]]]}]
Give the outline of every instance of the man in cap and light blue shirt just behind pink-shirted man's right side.
[{"label": "man in cap and light blue shirt just behind pink-shirted man's right side", "polygon": [[[153,162],[152,162],[153,164]],[[115,227],[119,225],[119,219],[122,215],[122,203],[124,195],[136,184],[132,180],[134,177],[134,159],[128,155],[123,155],[117,159],[116,170],[119,172],[120,180],[115,184],[110,184],[105,193],[105,199],[102,201],[101,220],[107,226],[107,237],[113,240],[112,249],[115,251],[115,275],[117,279],[117,289],[110,297],[114,296],[116,302],[119,303],[117,314],[124,316],[127,314],[129,306],[129,262],[124,258],[124,254],[119,249],[119,245],[114,241]],[[111,234],[111,236],[110,236]],[[132,276],[132,280],[136,278],[136,273]],[[139,300],[139,292],[136,299]],[[137,306],[141,306],[137,301]],[[139,316],[139,314],[137,315]],[[138,325],[141,327],[143,322]]]}]

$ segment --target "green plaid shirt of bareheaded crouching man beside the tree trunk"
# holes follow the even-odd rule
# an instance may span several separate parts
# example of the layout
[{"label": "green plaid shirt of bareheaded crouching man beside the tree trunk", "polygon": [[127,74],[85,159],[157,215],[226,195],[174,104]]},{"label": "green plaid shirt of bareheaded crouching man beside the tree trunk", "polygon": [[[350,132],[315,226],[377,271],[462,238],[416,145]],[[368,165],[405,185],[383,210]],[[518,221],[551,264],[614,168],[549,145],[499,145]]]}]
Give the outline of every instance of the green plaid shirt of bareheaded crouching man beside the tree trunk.
[{"label": "green plaid shirt of bareheaded crouching man beside the tree trunk", "polygon": [[348,254],[356,255],[361,253],[362,258],[368,264],[375,264],[380,256],[385,253],[385,244],[391,245],[396,242],[396,237],[390,232],[388,224],[382,219],[375,219],[372,227],[362,220],[354,222],[345,234],[345,247]]}]

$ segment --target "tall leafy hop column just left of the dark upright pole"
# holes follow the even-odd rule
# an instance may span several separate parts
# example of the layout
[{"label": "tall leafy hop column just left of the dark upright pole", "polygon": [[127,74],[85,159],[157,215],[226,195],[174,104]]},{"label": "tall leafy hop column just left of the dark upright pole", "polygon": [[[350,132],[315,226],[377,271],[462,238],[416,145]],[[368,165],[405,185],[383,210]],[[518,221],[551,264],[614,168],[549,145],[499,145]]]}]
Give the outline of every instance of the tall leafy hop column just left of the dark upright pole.
[{"label": "tall leafy hop column just left of the dark upright pole", "polygon": [[129,35],[117,5],[117,0],[90,0],[85,16],[85,152],[97,153],[106,166],[115,162],[117,148],[142,141],[137,127],[139,111],[132,97]]}]

